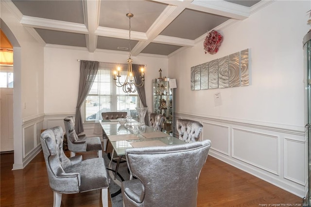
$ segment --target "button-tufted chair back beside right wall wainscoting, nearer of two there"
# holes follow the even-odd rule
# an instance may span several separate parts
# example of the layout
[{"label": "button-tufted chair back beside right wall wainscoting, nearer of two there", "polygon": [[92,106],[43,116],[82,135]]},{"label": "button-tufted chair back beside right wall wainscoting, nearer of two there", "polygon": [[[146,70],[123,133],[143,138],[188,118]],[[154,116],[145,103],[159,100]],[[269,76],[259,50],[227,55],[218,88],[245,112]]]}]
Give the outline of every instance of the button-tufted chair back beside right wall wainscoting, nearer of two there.
[{"label": "button-tufted chair back beside right wall wainscoting, nearer of two there", "polygon": [[185,142],[198,141],[203,125],[199,121],[177,119],[176,129],[179,139]]}]

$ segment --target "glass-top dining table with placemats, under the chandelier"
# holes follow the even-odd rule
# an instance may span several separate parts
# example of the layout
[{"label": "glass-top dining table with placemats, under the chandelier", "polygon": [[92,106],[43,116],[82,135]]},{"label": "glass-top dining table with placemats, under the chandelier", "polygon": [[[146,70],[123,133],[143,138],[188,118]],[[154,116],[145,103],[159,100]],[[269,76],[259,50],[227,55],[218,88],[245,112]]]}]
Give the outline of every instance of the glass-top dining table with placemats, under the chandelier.
[{"label": "glass-top dining table with placemats, under the chandelier", "polygon": [[146,126],[145,129],[139,129],[139,133],[135,135],[131,127],[138,125],[137,121],[125,125],[120,125],[117,120],[103,120],[100,123],[118,156],[125,155],[125,150],[131,147],[166,146],[186,143],[164,132],[156,131],[150,126]]}]

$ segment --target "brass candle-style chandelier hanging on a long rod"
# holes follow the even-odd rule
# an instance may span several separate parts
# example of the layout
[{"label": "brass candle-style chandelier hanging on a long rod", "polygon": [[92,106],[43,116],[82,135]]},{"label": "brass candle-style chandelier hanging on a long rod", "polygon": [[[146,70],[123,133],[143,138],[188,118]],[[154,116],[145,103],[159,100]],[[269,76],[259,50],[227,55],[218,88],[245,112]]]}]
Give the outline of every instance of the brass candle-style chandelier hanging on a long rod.
[{"label": "brass candle-style chandelier hanging on a long rod", "polygon": [[[135,81],[135,78],[133,77],[133,70],[132,70],[132,62],[133,60],[131,59],[131,17],[133,17],[134,15],[132,13],[127,13],[126,14],[126,17],[129,18],[129,22],[130,22],[130,27],[129,27],[129,56],[128,56],[128,59],[127,59],[127,75],[126,75],[126,78],[125,78],[125,81],[123,84],[121,84],[120,82],[120,67],[118,67],[118,70],[116,71],[113,71],[114,72],[114,78],[113,80],[115,80],[115,84],[116,86],[118,87],[122,87],[123,91],[125,93],[134,93],[136,92],[137,90],[137,87],[141,87],[144,85],[144,81],[145,81],[145,77],[144,77],[144,69],[141,68],[140,69],[140,80],[141,82],[139,84],[136,83]],[[117,78],[118,77],[118,78]],[[118,80],[118,82],[117,82]]]}]

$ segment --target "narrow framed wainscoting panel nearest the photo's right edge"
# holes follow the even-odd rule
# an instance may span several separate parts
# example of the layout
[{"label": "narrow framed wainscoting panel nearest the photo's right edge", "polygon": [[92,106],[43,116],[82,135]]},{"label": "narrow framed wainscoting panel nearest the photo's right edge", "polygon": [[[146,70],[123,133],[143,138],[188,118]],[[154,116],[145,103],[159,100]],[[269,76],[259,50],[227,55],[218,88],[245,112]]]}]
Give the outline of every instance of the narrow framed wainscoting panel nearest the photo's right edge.
[{"label": "narrow framed wainscoting panel nearest the photo's right edge", "polygon": [[306,153],[304,142],[284,138],[284,178],[305,185]]}]

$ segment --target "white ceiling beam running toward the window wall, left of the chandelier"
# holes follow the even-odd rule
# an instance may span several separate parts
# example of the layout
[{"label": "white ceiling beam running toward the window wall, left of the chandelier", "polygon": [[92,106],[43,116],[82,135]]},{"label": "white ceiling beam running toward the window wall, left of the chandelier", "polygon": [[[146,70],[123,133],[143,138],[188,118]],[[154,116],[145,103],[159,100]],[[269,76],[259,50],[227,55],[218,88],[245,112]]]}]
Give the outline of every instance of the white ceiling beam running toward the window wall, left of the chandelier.
[{"label": "white ceiling beam running toward the window wall, left of the chandelier", "polygon": [[99,26],[100,8],[100,0],[83,0],[84,22],[88,29],[86,47],[89,52],[94,52],[97,47],[97,35],[95,35],[95,31]]}]

